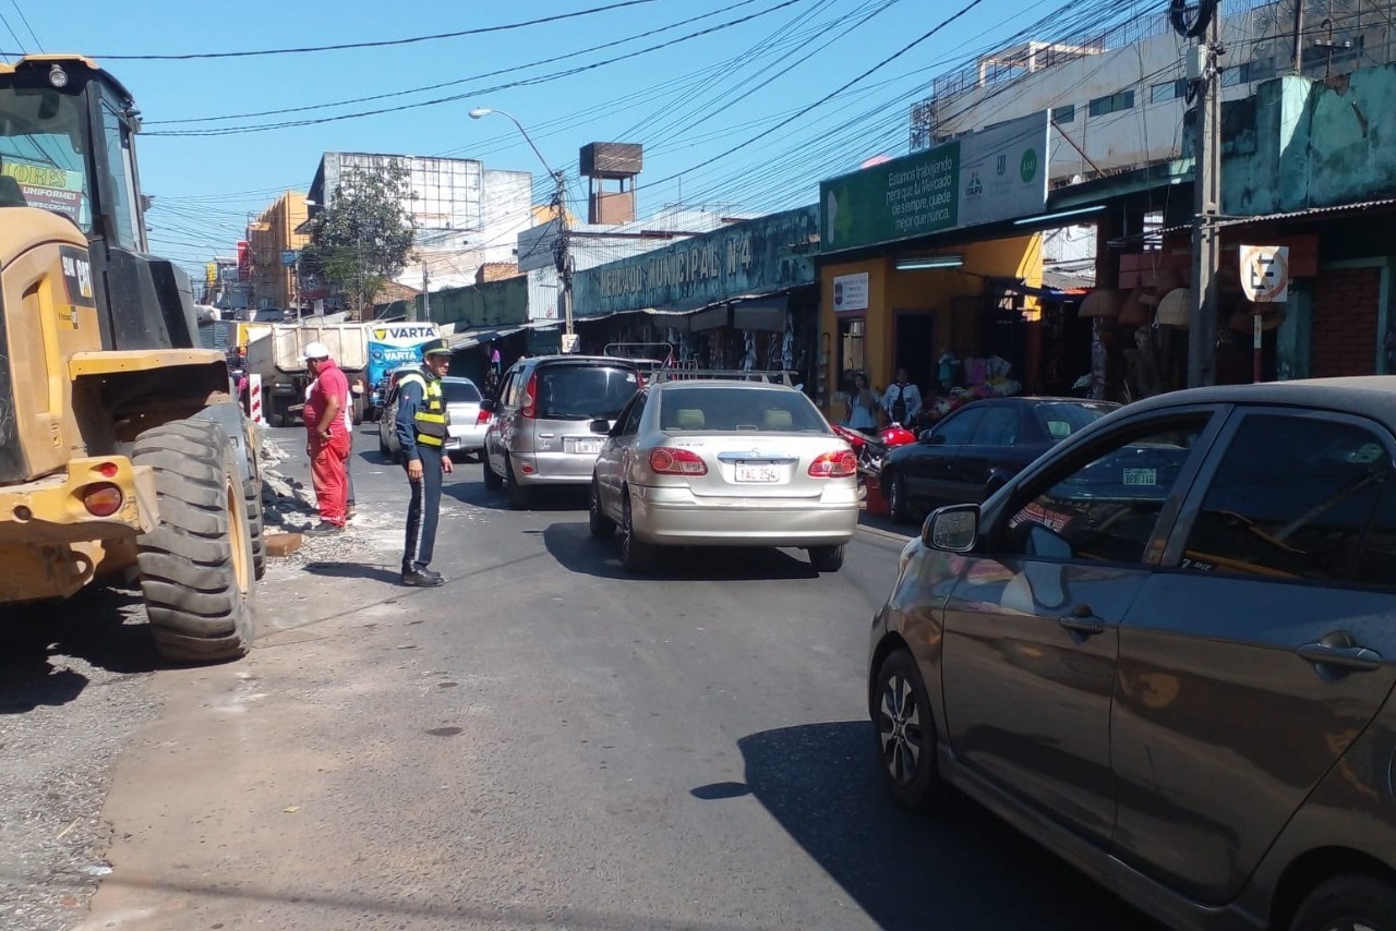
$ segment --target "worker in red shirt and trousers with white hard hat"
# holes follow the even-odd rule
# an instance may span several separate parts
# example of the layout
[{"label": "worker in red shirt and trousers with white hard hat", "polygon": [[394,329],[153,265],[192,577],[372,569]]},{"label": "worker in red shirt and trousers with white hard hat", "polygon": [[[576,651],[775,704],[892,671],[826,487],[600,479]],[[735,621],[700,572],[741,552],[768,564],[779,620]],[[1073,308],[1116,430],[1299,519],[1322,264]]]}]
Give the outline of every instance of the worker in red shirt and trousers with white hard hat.
[{"label": "worker in red shirt and trousers with white hard hat", "polygon": [[306,530],[315,536],[342,533],[345,529],[345,463],[349,459],[350,433],[345,419],[349,403],[349,380],[329,357],[321,342],[306,346],[306,370],[314,381],[306,398],[302,420],[306,423],[306,455],[310,456],[310,482],[320,505],[320,523]]}]

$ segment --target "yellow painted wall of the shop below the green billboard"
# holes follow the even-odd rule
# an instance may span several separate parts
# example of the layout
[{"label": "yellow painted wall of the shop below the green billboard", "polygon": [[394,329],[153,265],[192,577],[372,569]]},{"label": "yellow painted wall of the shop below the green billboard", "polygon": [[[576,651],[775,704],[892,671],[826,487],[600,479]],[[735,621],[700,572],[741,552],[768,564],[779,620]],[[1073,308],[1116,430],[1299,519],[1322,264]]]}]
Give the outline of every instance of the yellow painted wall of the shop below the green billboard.
[{"label": "yellow painted wall of the shop below the green billboard", "polygon": [[[913,251],[902,247],[902,254]],[[824,353],[824,398],[829,399],[826,413],[843,416],[842,405],[833,403],[839,374],[839,318],[863,317],[864,353],[870,381],[874,387],[885,387],[895,374],[892,371],[895,346],[895,311],[928,310],[935,318],[935,339],[955,341],[960,356],[981,346],[966,345],[965,338],[952,334],[951,306],[955,297],[977,297],[984,293],[986,278],[1022,279],[1027,285],[1040,286],[1043,275],[1041,236],[1015,236],[983,243],[967,243],[955,248],[917,250],[917,254],[935,251],[960,254],[962,268],[896,271],[898,253],[866,258],[856,262],[828,262],[819,269],[819,346]],[[868,274],[868,308],[835,315],[833,279],[839,275]],[[825,335],[828,334],[828,335]],[[940,355],[941,346],[931,352]]]}]

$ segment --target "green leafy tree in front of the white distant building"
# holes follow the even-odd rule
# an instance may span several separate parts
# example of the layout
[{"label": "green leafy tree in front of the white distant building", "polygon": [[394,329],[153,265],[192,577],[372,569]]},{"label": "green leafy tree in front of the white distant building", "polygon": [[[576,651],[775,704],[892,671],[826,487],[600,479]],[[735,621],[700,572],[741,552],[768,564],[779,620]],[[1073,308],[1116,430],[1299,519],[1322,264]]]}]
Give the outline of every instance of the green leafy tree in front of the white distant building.
[{"label": "green leafy tree in front of the white distant building", "polygon": [[413,197],[406,166],[383,162],[345,176],[310,219],[303,261],[345,295],[359,320],[412,257],[416,222],[405,204]]}]

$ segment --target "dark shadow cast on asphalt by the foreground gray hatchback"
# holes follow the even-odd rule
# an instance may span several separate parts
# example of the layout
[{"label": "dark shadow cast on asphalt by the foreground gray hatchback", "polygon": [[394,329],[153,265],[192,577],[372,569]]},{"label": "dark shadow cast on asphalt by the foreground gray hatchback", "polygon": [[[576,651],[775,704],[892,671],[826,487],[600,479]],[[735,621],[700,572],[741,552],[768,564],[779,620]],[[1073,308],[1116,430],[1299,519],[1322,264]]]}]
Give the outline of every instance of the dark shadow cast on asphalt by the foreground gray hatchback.
[{"label": "dark shadow cast on asphalt by the foreground gray hatchback", "polygon": [[881,928],[1161,931],[969,798],[952,796],[938,815],[899,810],[867,722],[768,730],[737,745],[745,784],[692,794],[754,796]]}]

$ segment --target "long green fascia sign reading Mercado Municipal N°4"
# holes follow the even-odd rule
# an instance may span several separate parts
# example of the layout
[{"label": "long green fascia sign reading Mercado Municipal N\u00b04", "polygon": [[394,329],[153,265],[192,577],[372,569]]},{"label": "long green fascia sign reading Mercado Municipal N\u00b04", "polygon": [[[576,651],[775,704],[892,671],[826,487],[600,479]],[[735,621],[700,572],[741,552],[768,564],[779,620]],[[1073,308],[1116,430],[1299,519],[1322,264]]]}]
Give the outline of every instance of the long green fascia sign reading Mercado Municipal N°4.
[{"label": "long green fascia sign reading Mercado Municipal N\u00b04", "polygon": [[801,207],[578,271],[574,315],[697,310],[741,295],[812,285],[818,230],[819,208]]}]

